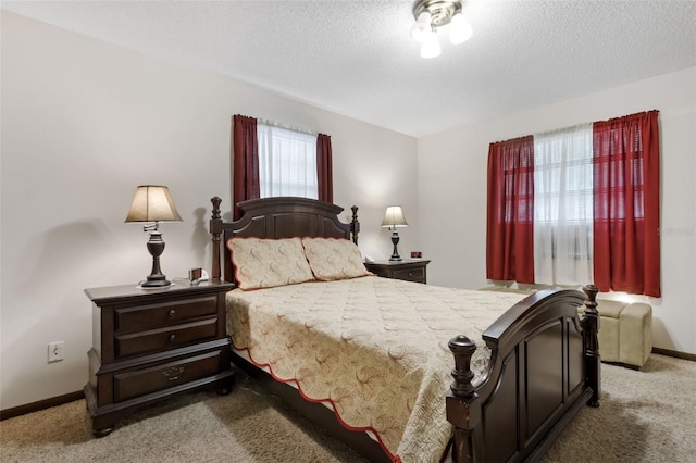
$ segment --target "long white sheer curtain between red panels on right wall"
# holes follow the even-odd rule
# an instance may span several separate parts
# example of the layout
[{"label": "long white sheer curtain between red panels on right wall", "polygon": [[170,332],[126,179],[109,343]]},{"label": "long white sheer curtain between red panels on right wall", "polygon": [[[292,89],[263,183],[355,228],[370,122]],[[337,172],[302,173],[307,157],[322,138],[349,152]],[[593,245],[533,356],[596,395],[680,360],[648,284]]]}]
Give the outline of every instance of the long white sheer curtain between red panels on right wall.
[{"label": "long white sheer curtain between red panels on right wall", "polygon": [[534,279],[593,280],[592,124],[534,136]]}]

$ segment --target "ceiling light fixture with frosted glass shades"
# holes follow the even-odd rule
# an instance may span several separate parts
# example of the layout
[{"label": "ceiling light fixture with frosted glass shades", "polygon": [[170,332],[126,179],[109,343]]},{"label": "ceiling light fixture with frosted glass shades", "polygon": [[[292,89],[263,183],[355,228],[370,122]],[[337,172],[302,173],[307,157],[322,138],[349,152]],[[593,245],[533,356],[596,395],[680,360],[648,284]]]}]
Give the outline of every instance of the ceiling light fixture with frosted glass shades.
[{"label": "ceiling light fixture with frosted glass shades", "polygon": [[461,13],[459,0],[417,0],[413,3],[415,23],[411,37],[421,42],[421,57],[434,58],[440,53],[438,30],[448,27],[449,41],[463,43],[471,38],[473,29]]}]

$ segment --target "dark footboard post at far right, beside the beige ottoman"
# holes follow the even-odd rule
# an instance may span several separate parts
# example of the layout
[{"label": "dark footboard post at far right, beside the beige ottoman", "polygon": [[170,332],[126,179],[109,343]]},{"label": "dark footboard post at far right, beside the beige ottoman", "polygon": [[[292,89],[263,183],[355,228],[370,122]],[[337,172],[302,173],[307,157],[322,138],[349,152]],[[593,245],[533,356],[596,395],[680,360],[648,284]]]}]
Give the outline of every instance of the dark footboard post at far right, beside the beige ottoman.
[{"label": "dark footboard post at far right, beside the beige ottoman", "polygon": [[592,397],[587,404],[599,406],[599,393],[601,392],[601,378],[599,374],[600,356],[597,331],[599,330],[599,312],[597,312],[597,292],[599,289],[595,285],[587,285],[583,288],[587,300],[585,301],[585,316],[583,316],[583,342],[585,350],[585,372],[587,386],[592,388]]}]

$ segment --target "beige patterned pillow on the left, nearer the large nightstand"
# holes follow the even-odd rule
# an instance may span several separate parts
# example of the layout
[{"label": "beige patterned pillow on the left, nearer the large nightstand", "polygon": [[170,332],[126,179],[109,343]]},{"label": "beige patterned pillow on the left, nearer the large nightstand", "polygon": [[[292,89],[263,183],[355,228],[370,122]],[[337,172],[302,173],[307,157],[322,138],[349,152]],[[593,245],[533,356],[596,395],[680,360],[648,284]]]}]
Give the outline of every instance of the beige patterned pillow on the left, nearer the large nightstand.
[{"label": "beige patterned pillow on the left, nearer the large nightstand", "polygon": [[314,279],[300,238],[229,238],[235,278],[241,289],[271,288]]}]

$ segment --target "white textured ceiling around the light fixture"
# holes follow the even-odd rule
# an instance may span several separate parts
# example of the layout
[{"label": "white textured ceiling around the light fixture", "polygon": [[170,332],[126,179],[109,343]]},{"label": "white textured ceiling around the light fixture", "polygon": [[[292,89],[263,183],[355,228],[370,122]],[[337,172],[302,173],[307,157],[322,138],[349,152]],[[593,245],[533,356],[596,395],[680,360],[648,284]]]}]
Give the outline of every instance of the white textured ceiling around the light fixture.
[{"label": "white textured ceiling around the light fixture", "polygon": [[[408,1],[2,1],[2,9],[412,136],[696,65],[695,1],[469,0],[422,59]],[[695,83],[696,85],[696,83]]]}]

